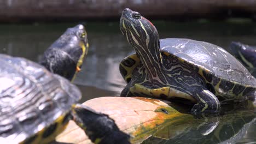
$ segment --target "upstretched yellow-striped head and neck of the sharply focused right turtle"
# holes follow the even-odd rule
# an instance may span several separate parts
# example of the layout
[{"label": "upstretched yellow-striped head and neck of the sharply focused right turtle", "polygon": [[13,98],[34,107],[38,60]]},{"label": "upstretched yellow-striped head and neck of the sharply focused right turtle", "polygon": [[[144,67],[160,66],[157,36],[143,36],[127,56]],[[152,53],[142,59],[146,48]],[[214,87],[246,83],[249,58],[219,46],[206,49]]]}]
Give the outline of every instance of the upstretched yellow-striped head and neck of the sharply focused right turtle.
[{"label": "upstretched yellow-striped head and neck of the sharply focused right turtle", "polygon": [[126,8],[120,18],[120,29],[141,59],[149,79],[160,80],[159,77],[164,77],[159,35],[152,22],[137,11]]}]

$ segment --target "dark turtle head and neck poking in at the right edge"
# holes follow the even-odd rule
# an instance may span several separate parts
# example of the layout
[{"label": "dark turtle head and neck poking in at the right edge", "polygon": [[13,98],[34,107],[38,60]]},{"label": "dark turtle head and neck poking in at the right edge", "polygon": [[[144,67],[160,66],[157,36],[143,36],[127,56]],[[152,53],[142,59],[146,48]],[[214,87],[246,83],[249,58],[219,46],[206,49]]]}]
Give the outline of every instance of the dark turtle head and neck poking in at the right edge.
[{"label": "dark turtle head and neck poking in at the right edge", "polygon": [[240,42],[232,41],[229,49],[233,55],[239,59],[245,67],[256,67],[256,46],[249,46]]}]

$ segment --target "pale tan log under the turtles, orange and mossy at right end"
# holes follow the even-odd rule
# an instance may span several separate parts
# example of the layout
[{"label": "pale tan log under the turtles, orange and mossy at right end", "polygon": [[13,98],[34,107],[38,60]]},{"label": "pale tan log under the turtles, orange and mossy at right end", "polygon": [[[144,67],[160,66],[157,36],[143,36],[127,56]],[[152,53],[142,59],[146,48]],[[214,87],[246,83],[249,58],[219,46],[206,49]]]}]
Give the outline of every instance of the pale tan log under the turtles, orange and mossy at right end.
[{"label": "pale tan log under the turtles, orange and mossy at right end", "polygon": [[[187,125],[193,116],[183,114],[169,106],[168,101],[149,98],[102,97],[88,100],[84,105],[107,114],[120,131],[130,136],[132,143],[141,143],[156,131],[168,125]],[[91,123],[92,124],[92,123]],[[92,143],[73,121],[56,137],[63,143]]]}]

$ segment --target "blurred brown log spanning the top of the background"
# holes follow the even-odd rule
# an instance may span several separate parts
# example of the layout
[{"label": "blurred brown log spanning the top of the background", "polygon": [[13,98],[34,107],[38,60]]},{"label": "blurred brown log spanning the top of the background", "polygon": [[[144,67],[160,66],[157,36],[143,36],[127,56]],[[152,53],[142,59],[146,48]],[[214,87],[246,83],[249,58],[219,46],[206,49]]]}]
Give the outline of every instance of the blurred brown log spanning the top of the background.
[{"label": "blurred brown log spanning the top of the background", "polygon": [[3,0],[0,21],[117,19],[124,8],[149,18],[256,17],[256,1],[251,0]]}]

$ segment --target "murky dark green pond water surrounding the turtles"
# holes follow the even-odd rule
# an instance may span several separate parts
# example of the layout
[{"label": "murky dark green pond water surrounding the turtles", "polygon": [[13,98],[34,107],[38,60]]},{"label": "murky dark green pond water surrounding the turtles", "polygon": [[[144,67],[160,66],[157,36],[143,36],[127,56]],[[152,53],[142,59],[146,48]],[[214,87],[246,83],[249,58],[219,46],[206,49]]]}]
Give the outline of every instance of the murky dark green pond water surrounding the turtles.
[{"label": "murky dark green pond water surrounding the turtles", "polygon": [[[0,25],[0,52],[37,61],[44,50],[67,27],[73,27],[77,24],[36,23],[33,25]],[[242,43],[256,45],[256,23],[253,22],[155,21],[154,24],[158,28],[160,38],[202,40],[219,45],[225,49],[231,41],[241,41]],[[82,72],[78,74],[77,79],[74,81],[83,92],[82,101],[96,97],[118,96],[126,85],[119,74],[119,62],[132,53],[133,50],[125,37],[121,35],[118,21],[88,22],[85,25],[88,31],[90,49],[88,57],[83,64]],[[234,116],[234,119],[238,119],[238,117]],[[248,122],[249,124],[246,127],[241,128],[241,130],[246,129],[244,130],[246,133],[239,135],[240,137],[238,138],[235,137],[235,142],[256,143],[256,133],[254,132],[256,122],[254,120],[255,117],[249,119],[248,121],[251,123]],[[191,132],[188,131],[180,139],[193,137],[193,135],[195,135],[194,130],[191,130]],[[225,136],[225,133],[222,135]],[[171,140],[166,141],[160,138],[156,139],[155,137],[149,139],[148,142],[150,140],[155,141],[155,143],[174,143]],[[226,141],[223,142],[225,143]],[[177,140],[175,143],[186,143],[186,141]]]}]

